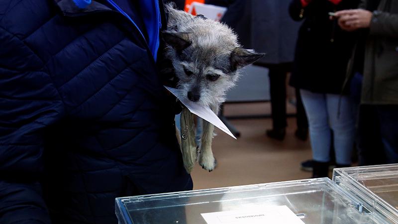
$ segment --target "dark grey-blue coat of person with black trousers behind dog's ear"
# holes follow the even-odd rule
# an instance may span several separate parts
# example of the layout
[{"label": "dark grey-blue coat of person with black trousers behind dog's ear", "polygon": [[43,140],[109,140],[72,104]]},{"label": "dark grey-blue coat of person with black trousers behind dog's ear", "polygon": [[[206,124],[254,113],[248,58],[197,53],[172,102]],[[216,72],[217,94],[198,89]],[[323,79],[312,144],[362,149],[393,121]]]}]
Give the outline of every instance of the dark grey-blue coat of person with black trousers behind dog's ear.
[{"label": "dark grey-blue coat of person with black trousers behind dog's ear", "polygon": [[266,53],[257,64],[293,62],[300,23],[289,16],[290,0],[251,2],[251,47]]}]

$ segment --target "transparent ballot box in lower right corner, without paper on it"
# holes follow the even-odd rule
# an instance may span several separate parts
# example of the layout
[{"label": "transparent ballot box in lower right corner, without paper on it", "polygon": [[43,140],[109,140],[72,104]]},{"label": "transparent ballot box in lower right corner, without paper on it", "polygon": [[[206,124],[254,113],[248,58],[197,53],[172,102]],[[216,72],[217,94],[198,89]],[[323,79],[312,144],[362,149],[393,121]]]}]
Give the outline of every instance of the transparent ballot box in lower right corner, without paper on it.
[{"label": "transparent ballot box in lower right corner, without paper on it", "polygon": [[333,181],[357,198],[364,212],[398,224],[398,164],[334,169]]}]

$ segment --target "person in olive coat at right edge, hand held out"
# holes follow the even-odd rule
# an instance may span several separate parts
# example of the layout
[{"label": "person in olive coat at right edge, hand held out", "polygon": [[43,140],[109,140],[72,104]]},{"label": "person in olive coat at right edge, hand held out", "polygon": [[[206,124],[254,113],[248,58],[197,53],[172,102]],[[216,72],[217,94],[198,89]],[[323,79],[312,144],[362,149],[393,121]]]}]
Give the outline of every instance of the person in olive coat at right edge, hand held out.
[{"label": "person in olive coat at right edge, hand held out", "polygon": [[358,118],[360,165],[398,163],[398,0],[363,0],[359,9],[336,16],[342,29],[367,32]]}]

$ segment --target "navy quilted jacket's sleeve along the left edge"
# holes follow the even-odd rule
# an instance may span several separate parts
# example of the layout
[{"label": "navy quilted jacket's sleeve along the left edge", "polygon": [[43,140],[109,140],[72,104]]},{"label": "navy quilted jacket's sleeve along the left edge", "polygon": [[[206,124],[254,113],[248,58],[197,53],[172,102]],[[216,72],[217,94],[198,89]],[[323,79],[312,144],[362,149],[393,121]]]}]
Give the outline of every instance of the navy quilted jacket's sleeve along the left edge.
[{"label": "navy quilted jacket's sleeve along the left edge", "polygon": [[0,46],[0,223],[48,224],[43,136],[63,116],[63,103],[43,61],[2,27]]}]

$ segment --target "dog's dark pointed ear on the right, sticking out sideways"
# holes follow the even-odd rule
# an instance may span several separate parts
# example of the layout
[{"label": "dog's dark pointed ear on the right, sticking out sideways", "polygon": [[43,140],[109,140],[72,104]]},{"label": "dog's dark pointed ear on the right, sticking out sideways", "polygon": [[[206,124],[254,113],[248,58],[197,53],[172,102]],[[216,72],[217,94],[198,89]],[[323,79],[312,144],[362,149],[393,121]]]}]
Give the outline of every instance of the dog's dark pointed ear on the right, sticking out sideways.
[{"label": "dog's dark pointed ear on the right, sticking out sideways", "polygon": [[231,53],[231,71],[243,68],[262,58],[264,53],[256,53],[253,50],[247,50],[242,47],[236,47]]}]

